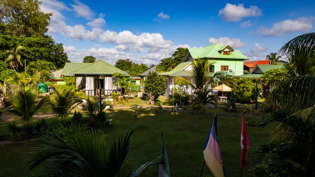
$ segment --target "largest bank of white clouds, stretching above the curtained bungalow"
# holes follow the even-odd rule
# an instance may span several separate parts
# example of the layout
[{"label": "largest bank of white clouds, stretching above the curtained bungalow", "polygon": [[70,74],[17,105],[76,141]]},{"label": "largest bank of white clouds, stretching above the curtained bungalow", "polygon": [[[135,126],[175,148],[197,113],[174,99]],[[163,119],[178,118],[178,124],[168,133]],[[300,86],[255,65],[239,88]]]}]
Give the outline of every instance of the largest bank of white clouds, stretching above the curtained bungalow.
[{"label": "largest bank of white clouds, stretching above the curtained bungalow", "polygon": [[[65,17],[61,14],[63,10],[71,11],[64,3],[56,0],[44,0],[41,9],[45,13],[53,12],[49,25],[48,33],[54,35],[60,33],[64,37],[74,40],[89,40],[97,42],[95,47],[90,49],[76,49],[69,45],[64,46],[68,54],[69,60],[72,62],[82,62],[84,56],[93,55],[97,59],[104,60],[114,64],[117,59],[129,58],[137,63],[157,64],[159,60],[167,58],[174,53],[178,47],[189,48],[185,45],[174,45],[171,40],[164,39],[160,33],[133,33],[132,31],[110,31],[101,28],[105,24],[103,17],[105,14],[99,14],[99,18],[93,19],[94,13],[88,6],[74,1],[75,5],[71,4],[77,16],[83,16],[90,19],[86,25],[91,26],[87,29],[81,24],[68,25],[64,22]],[[89,14],[84,14],[81,10],[89,11]],[[161,14],[161,13],[160,13]],[[167,18],[167,14],[162,13],[162,18]],[[104,21],[103,21],[103,20]],[[106,47],[104,47],[104,45]],[[83,45],[84,46],[84,45]]]}]

